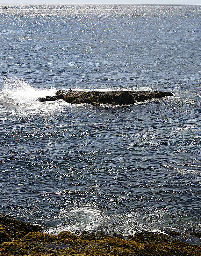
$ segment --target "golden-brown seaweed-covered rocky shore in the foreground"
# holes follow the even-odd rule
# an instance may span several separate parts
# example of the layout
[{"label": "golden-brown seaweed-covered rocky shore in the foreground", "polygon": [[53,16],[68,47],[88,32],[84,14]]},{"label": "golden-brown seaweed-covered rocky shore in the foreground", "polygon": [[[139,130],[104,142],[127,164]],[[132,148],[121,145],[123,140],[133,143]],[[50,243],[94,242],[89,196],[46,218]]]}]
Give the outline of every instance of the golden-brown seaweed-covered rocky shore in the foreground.
[{"label": "golden-brown seaweed-covered rocky shore in the foreground", "polygon": [[[141,232],[127,239],[102,233],[58,236],[38,232],[41,227],[0,214],[0,255],[40,256],[200,256],[201,246],[178,241],[159,232]],[[175,232],[174,232],[175,233]],[[194,236],[201,236],[194,232]],[[176,235],[176,234],[172,234]],[[178,234],[177,234],[178,235]],[[198,238],[199,239],[199,238]]]}]

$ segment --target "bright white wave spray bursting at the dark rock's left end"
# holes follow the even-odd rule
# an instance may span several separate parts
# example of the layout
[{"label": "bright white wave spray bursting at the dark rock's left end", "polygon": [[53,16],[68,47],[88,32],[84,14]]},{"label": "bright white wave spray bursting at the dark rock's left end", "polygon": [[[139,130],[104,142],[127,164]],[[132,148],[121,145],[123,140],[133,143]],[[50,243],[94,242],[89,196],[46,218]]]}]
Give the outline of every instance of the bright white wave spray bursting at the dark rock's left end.
[{"label": "bright white wave spray bursting at the dark rock's left end", "polygon": [[39,97],[54,96],[56,88],[35,89],[24,79],[10,77],[4,80],[0,100],[16,104],[31,104]]}]

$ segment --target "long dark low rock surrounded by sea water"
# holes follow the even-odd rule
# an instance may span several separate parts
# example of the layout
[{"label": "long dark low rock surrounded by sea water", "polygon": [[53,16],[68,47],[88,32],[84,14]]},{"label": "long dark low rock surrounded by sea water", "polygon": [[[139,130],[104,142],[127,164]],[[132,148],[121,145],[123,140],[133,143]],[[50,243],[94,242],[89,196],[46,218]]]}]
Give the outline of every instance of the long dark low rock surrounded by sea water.
[{"label": "long dark low rock surrounded by sea water", "polygon": [[55,96],[47,96],[46,98],[39,98],[40,102],[65,100],[68,103],[101,103],[112,105],[127,105],[136,102],[160,99],[166,96],[173,96],[171,92],[148,92],[148,91],[111,91],[111,92],[97,92],[97,91],[75,91],[75,90],[59,90]]}]

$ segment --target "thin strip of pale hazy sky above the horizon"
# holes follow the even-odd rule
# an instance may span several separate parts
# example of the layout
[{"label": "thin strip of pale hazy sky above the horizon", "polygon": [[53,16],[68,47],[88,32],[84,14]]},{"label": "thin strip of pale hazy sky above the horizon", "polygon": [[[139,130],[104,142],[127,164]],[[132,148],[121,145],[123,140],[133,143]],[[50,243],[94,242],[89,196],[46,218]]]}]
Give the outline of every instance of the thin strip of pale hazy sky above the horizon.
[{"label": "thin strip of pale hazy sky above the horizon", "polygon": [[201,0],[0,0],[0,4],[201,4]]}]

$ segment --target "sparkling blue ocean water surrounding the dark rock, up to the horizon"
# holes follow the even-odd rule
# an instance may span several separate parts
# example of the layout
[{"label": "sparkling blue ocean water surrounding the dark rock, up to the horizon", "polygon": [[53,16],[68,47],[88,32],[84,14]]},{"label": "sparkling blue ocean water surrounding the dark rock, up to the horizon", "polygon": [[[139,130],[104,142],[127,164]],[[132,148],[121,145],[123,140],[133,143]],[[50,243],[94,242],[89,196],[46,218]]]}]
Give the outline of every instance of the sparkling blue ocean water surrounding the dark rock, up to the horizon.
[{"label": "sparkling blue ocean water surrounding the dark rock, up to the horizon", "polygon": [[[0,5],[0,212],[43,226],[201,231],[201,5]],[[162,90],[129,106],[59,89]]]}]

